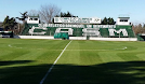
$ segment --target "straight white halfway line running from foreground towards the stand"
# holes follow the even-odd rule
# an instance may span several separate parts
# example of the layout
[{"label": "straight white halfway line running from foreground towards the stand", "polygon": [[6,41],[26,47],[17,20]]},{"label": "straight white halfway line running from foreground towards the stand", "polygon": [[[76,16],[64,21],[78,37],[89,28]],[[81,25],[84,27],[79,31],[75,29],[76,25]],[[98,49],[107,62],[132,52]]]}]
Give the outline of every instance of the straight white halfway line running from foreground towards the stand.
[{"label": "straight white halfway line running from foreground towards the stand", "polygon": [[[72,40],[71,40],[72,41]],[[47,76],[49,75],[49,73],[51,72],[51,70],[53,69],[53,67],[55,66],[55,64],[57,62],[57,60],[60,59],[60,57],[63,55],[63,53],[65,52],[65,50],[67,48],[67,46],[71,43],[71,41],[65,46],[65,48],[62,51],[62,53],[60,54],[60,56],[56,58],[56,60],[53,62],[53,65],[51,66],[51,68],[48,70],[48,72],[45,73],[45,75],[43,76],[43,79],[40,81],[40,84],[43,84],[44,80],[47,79]]]}]

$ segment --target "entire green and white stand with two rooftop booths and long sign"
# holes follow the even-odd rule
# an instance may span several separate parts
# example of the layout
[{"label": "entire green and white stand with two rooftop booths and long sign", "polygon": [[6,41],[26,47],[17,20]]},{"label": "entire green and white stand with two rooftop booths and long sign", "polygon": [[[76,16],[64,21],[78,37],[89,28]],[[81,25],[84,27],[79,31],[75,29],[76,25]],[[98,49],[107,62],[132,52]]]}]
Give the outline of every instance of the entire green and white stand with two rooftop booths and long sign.
[{"label": "entire green and white stand with two rooftop booths and long sign", "polygon": [[29,16],[19,38],[137,41],[130,17],[118,17],[116,25],[100,25],[101,22],[101,18],[54,17],[55,24],[41,24],[39,16]]}]

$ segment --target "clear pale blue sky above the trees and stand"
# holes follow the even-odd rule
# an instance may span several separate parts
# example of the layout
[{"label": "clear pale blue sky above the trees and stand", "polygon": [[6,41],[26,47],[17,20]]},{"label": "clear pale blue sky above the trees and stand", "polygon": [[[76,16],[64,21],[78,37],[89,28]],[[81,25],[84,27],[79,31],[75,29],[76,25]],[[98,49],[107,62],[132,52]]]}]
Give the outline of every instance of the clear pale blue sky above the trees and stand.
[{"label": "clear pale blue sky above the trees and stand", "polygon": [[79,17],[113,17],[130,15],[134,24],[145,23],[145,0],[0,0],[0,22],[4,17],[21,16],[19,12],[39,10],[40,5],[55,4],[62,12]]}]

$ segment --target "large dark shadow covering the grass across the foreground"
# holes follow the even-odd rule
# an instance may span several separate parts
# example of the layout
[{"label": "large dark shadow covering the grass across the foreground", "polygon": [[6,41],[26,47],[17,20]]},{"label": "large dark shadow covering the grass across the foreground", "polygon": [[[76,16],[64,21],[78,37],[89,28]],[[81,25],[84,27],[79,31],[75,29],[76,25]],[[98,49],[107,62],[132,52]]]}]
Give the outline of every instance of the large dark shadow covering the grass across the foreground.
[{"label": "large dark shadow covering the grass across the foreground", "polygon": [[[39,84],[51,65],[0,69],[0,84]],[[55,65],[43,84],[145,84],[145,61]]]}]

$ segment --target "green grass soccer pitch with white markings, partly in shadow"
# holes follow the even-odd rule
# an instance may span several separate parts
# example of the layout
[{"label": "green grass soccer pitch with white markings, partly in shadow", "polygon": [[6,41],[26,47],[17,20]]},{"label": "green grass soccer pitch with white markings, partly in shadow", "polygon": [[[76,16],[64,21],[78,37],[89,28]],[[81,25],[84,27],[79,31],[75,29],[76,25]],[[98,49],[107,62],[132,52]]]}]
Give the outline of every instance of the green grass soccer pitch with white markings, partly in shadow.
[{"label": "green grass soccer pitch with white markings, partly in shadow", "polygon": [[145,42],[0,39],[0,84],[145,84]]}]

